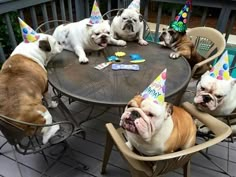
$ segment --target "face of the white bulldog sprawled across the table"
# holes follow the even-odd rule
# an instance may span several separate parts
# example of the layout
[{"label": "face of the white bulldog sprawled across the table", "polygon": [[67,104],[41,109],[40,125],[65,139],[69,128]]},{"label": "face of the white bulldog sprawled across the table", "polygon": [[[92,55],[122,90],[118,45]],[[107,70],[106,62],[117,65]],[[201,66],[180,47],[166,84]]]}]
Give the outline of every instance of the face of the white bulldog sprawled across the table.
[{"label": "face of the white bulldog sprawled across the table", "polygon": [[87,24],[91,39],[99,47],[105,48],[110,40],[110,24],[108,20],[99,24]]}]

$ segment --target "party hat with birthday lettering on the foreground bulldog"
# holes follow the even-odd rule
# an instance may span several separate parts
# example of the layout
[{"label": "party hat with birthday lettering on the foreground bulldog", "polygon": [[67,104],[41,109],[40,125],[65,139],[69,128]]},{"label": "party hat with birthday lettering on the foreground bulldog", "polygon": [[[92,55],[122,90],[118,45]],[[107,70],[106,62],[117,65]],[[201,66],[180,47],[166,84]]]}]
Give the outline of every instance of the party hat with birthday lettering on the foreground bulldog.
[{"label": "party hat with birthday lettering on the foreground bulldog", "polygon": [[151,98],[154,102],[162,104],[165,101],[166,92],[166,72],[164,69],[162,73],[141,93],[144,98]]}]

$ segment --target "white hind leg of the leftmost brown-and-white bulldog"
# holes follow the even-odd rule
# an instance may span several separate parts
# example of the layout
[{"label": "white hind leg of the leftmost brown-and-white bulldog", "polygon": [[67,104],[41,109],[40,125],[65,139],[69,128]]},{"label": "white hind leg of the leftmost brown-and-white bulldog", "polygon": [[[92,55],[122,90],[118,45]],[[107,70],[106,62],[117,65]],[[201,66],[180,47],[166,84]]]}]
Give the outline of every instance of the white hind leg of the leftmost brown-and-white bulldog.
[{"label": "white hind leg of the leftmost brown-and-white bulldog", "polygon": [[[51,124],[52,123],[52,116],[47,110],[46,112],[38,111],[40,115],[43,116],[43,118],[46,120],[45,124]],[[43,134],[43,144],[46,144],[48,140],[55,135],[55,133],[60,129],[59,125],[54,125],[50,127],[44,127],[41,130],[41,133]]]}]

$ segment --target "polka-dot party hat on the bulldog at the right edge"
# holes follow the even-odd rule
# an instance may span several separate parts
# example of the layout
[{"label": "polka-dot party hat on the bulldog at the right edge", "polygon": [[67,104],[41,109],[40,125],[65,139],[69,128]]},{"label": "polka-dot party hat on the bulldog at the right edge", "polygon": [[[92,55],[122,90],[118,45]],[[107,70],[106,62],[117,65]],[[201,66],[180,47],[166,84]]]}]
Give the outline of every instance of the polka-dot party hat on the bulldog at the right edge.
[{"label": "polka-dot party hat on the bulldog at the right edge", "polygon": [[229,80],[231,78],[229,74],[229,56],[227,50],[223,53],[218,62],[211,68],[209,74],[219,80]]}]

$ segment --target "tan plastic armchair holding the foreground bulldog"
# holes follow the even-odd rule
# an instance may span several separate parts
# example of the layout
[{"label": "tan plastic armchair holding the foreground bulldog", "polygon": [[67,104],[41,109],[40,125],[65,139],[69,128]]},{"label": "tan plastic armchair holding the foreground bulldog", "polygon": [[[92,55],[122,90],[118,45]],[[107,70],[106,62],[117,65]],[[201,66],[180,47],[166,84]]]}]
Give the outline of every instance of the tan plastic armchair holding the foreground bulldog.
[{"label": "tan plastic armchair holding the foreground bulldog", "polygon": [[[107,128],[107,141],[105,146],[102,173],[106,172],[106,166],[109,160],[109,156],[113,145],[115,144],[118,151],[128,162],[128,167],[132,177],[150,177],[158,176],[177,168],[184,169],[184,176],[190,176],[190,159],[193,154],[206,149],[214,144],[217,144],[227,138],[231,134],[231,129],[228,125],[215,119],[209,114],[199,112],[193,105],[186,102],[183,104],[186,109],[193,117],[202,121],[208,126],[212,132],[215,133],[215,137],[206,141],[202,144],[195,145],[191,148],[177,151],[174,153],[157,155],[152,157],[142,156],[138,153],[131,151],[125,144],[124,131],[122,128],[115,129],[111,123],[106,124]],[[153,165],[156,166],[153,170]]]}]

